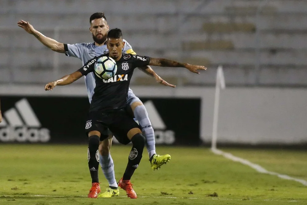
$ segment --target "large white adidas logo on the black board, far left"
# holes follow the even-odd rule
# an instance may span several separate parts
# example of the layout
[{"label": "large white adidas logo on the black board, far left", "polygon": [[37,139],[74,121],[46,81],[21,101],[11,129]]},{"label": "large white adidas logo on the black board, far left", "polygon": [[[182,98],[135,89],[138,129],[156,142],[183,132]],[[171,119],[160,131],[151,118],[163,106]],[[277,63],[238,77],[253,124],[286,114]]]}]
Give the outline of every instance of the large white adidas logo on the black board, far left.
[{"label": "large white adidas logo on the black board, far left", "polygon": [[41,123],[27,99],[15,103],[15,107],[2,113],[0,141],[2,142],[48,142],[50,131]]}]

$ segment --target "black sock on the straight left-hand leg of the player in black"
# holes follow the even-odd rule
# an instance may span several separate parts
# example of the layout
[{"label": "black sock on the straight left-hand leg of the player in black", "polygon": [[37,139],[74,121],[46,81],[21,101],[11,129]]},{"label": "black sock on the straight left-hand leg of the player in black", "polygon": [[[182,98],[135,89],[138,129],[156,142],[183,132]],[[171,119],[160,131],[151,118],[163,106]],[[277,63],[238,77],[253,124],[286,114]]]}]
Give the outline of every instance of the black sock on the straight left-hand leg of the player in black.
[{"label": "black sock on the straight left-hand leg of the player in black", "polygon": [[99,136],[92,135],[88,138],[87,161],[90,169],[92,183],[99,183],[98,168],[99,168]]}]

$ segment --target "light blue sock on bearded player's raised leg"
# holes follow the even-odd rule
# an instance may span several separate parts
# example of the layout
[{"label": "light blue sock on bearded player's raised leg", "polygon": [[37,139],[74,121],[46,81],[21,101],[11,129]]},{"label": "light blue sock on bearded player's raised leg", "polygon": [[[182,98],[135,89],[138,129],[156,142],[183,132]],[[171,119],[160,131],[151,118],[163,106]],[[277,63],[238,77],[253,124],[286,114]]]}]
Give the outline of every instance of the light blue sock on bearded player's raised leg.
[{"label": "light blue sock on bearded player's raised leg", "polygon": [[148,118],[148,113],[144,105],[139,105],[134,109],[134,117],[142,127],[142,132],[146,138],[146,148],[149,157],[156,154],[156,142],[154,139],[154,131]]}]

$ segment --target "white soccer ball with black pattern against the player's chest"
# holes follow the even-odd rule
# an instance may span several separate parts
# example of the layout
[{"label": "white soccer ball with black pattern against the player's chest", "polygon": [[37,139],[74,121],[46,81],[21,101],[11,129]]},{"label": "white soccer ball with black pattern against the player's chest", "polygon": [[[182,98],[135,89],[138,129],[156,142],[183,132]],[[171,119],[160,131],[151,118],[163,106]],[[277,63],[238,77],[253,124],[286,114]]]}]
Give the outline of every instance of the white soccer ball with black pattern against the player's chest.
[{"label": "white soccer ball with black pattern against the player's chest", "polygon": [[109,79],[116,74],[117,65],[113,58],[103,56],[97,59],[95,64],[95,74],[101,79]]}]

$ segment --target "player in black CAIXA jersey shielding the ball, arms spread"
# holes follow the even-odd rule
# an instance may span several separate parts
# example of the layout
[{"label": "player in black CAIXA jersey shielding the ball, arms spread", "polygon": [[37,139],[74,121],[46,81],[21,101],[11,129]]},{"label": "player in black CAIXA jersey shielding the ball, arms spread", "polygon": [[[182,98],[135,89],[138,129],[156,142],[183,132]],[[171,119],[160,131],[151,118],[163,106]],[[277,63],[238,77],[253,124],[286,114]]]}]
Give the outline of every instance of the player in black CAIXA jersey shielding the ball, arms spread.
[{"label": "player in black CAIXA jersey shielding the ball, arms spread", "polygon": [[124,175],[119,180],[119,187],[126,191],[128,197],[135,199],[137,195],[133,190],[130,179],[141,161],[145,137],[142,135],[139,125],[126,112],[126,97],[134,69],[146,65],[183,67],[199,74],[198,70],[206,70],[206,68],[164,58],[151,58],[133,54],[123,55],[122,48],[124,45],[122,31],[118,28],[110,30],[107,35],[109,53],[94,57],[76,72],[66,75],[57,81],[49,82],[45,85],[45,90],[52,90],[56,85],[71,84],[80,77],[94,72],[95,61],[99,57],[109,56],[116,61],[117,72],[114,77],[103,80],[95,75],[96,87],[85,125],[85,131],[89,137],[88,165],[92,179],[97,178],[98,182],[99,140],[104,140],[108,137],[103,135],[107,128],[114,133],[120,143],[128,144],[131,141],[132,149]]}]

